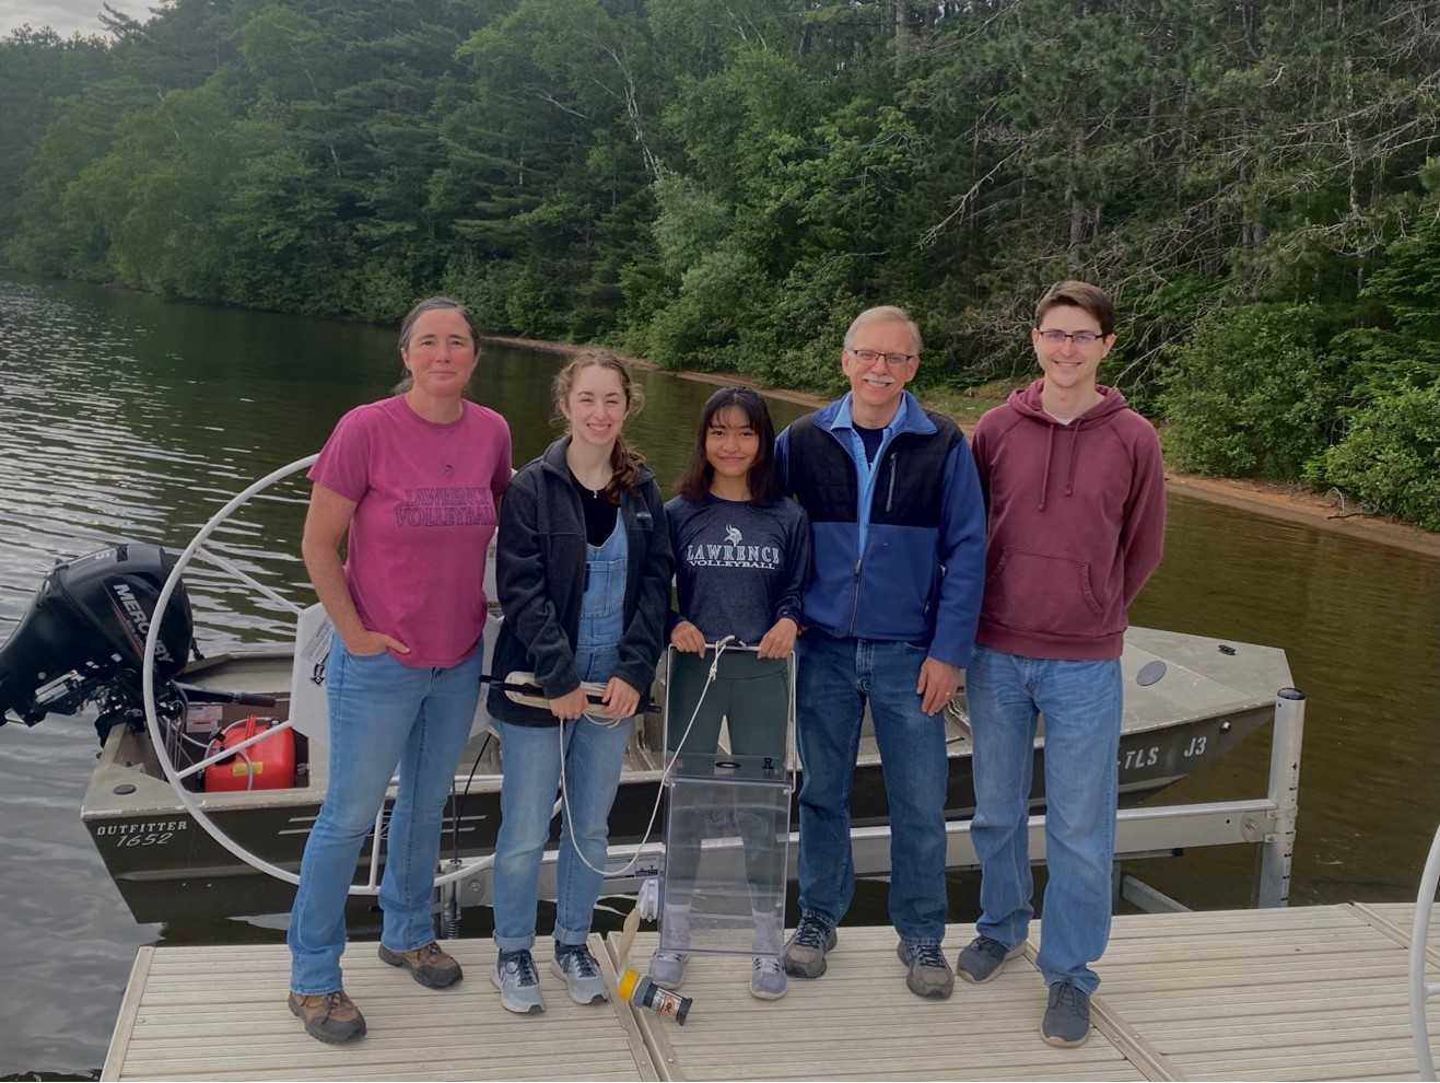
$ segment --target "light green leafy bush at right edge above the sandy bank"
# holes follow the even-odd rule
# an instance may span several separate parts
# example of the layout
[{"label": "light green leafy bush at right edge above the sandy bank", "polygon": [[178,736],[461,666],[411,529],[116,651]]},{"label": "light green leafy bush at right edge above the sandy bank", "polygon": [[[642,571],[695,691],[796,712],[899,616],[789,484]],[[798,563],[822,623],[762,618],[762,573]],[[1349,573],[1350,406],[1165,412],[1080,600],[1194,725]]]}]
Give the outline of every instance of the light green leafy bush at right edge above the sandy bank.
[{"label": "light green leafy bush at right edge above the sandy bank", "polygon": [[1440,383],[1375,399],[1308,468],[1371,511],[1440,530]]}]

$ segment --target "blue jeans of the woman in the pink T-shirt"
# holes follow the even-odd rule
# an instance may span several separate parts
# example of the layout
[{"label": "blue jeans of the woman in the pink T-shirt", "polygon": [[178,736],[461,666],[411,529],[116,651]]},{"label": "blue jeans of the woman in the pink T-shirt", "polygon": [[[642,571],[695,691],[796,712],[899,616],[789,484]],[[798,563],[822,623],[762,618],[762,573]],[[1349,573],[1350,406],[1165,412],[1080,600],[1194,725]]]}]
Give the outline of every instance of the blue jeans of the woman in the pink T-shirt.
[{"label": "blue jeans of the woman in the pink T-shirt", "polygon": [[380,942],[409,952],[435,939],[431,897],[441,817],[475,717],[481,662],[477,645],[449,668],[412,668],[389,654],[353,655],[336,637],[325,667],[330,788],[305,841],[285,935],[292,991],[341,988],[346,894],[397,763],[400,785],[380,881]]}]

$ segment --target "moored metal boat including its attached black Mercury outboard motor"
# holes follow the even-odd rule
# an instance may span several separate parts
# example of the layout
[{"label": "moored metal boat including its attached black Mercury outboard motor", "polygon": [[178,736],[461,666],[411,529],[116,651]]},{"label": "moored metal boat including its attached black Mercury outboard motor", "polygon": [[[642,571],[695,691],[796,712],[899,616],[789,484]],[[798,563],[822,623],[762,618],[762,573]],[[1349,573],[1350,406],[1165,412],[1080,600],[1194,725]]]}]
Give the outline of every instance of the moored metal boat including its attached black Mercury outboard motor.
[{"label": "moored metal boat including its attached black Mercury outboard motor", "polygon": [[[203,543],[245,500],[311,461],[275,471],[235,497],[179,560],[154,546],[121,544],[58,566],[0,648],[0,709],[35,724],[48,711],[73,714],[86,704],[99,706],[102,746],[81,815],[140,922],[289,909],[294,887],[287,880],[292,881],[298,870],[328,775],[324,696],[315,670],[323,665],[327,638],[317,634],[318,606],[301,611],[207,553]],[[187,661],[193,644],[181,572],[196,556],[210,557],[289,606],[298,616],[295,645]],[[156,612],[164,618],[154,619]],[[498,619],[492,612],[491,622]],[[494,644],[494,628],[487,629],[485,641]],[[312,671],[317,678],[307,680]],[[1122,805],[1135,805],[1225,755],[1274,716],[1276,691],[1290,684],[1284,652],[1277,648],[1146,628],[1126,634],[1122,671]],[[664,703],[664,670],[651,698]],[[226,756],[225,746],[210,743],[213,737],[193,734],[226,733],[252,716],[266,717],[294,734],[289,785],[207,792],[197,773],[207,765],[239,756],[248,785],[252,768],[239,755],[245,743]],[[950,765],[946,817],[953,825],[969,819],[975,806],[963,691],[945,711],[945,726]],[[1031,806],[1041,811],[1043,720],[1034,756]],[[793,752],[791,760],[798,772]],[[438,883],[456,884],[456,906],[488,902],[488,877],[482,873],[500,825],[503,766],[504,749],[481,710],[456,763],[444,828],[442,857],[452,871]],[[651,711],[632,730],[611,815],[611,842],[612,850],[631,853],[644,844],[655,857],[638,864],[624,883],[613,883],[615,890],[657,867],[658,844],[647,840],[645,831],[664,768],[662,719]],[[860,832],[888,822],[880,752],[868,722],[855,766],[851,815]],[[384,860],[386,817],[387,811],[382,811],[361,853],[356,904],[374,893]],[[857,848],[857,874],[887,874],[887,851]],[[553,861],[553,851],[550,857]],[[269,871],[264,871],[265,866]]]}]

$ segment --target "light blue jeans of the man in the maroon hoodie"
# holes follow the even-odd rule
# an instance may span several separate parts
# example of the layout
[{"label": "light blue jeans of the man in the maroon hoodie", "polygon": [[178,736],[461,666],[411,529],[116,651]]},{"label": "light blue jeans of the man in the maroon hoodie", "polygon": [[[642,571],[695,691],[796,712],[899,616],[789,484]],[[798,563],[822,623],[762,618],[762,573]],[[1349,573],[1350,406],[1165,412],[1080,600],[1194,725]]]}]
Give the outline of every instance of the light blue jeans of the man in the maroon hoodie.
[{"label": "light blue jeans of the man in the maroon hoodie", "polygon": [[1030,929],[1030,786],[1045,716],[1045,886],[1040,972],[1094,992],[1087,963],[1110,939],[1119,786],[1120,661],[1025,658],[976,647],[965,677],[975,742],[975,821],[984,936],[1014,946]]}]

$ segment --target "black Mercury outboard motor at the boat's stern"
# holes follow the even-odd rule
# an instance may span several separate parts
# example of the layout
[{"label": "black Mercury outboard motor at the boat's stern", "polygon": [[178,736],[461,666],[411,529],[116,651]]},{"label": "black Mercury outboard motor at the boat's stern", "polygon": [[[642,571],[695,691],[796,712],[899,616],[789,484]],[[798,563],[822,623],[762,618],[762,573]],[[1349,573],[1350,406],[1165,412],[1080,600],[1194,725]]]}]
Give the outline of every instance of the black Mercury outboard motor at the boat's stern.
[{"label": "black Mercury outboard motor at the boat's stern", "polygon": [[[141,660],[156,601],[174,557],[128,542],[56,565],[0,647],[0,724],[101,707],[101,740],[117,722],[144,724]],[[156,678],[168,684],[190,658],[193,619],[184,586],[170,598],[156,644]]]}]

